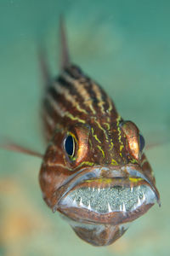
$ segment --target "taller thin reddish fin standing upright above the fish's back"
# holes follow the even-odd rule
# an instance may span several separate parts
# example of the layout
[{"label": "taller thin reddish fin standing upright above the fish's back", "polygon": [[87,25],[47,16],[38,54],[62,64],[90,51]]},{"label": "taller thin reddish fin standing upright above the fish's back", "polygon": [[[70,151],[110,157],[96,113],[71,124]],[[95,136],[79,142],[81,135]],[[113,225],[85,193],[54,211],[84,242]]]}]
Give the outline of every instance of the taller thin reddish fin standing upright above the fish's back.
[{"label": "taller thin reddish fin standing upright above the fish's back", "polygon": [[70,64],[69,50],[65,34],[65,22],[63,16],[59,19],[59,36],[60,36],[60,68],[63,69]]}]

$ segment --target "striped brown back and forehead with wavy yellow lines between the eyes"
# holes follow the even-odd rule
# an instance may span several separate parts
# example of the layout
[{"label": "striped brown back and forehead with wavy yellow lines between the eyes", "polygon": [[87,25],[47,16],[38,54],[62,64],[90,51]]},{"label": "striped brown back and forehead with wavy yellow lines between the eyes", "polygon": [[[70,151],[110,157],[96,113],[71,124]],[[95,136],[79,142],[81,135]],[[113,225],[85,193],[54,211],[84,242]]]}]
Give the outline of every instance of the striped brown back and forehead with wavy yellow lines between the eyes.
[{"label": "striped brown back and forehead with wavy yellow lines between the eyes", "polygon": [[77,123],[90,125],[99,158],[105,158],[105,162],[112,165],[117,164],[116,159],[118,162],[123,159],[121,117],[105,90],[77,66],[66,67],[48,86],[43,101],[43,121],[48,140],[58,125],[65,131]]}]

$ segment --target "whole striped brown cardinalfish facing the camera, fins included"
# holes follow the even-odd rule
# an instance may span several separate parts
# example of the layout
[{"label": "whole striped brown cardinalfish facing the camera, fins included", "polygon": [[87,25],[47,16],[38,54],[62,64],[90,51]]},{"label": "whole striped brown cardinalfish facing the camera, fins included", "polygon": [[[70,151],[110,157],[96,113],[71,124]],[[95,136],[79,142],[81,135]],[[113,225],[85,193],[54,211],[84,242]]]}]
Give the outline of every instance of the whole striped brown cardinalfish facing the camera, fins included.
[{"label": "whole striped brown cardinalfish facing the camera, fins included", "polygon": [[41,55],[45,154],[8,148],[41,156],[39,183],[48,207],[82,240],[106,246],[156,201],[160,205],[160,195],[139,128],[122,119],[105,90],[71,63],[62,21],[60,38],[57,78],[51,79]]}]

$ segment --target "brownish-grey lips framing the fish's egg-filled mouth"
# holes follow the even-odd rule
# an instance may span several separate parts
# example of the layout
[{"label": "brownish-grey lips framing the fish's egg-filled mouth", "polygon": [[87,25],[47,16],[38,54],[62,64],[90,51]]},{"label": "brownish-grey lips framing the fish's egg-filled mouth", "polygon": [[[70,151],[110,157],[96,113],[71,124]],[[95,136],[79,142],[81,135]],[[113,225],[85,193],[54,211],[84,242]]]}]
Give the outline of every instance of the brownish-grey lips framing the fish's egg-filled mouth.
[{"label": "brownish-grey lips framing the fish's egg-filled mouth", "polygon": [[[71,189],[74,189],[77,187],[79,183],[86,183],[87,180],[89,179],[95,179],[95,178],[129,178],[129,177],[136,177],[136,178],[142,178],[145,183],[150,187],[150,189],[154,192],[156,196],[156,201],[160,205],[160,196],[159,192],[156,189],[156,186],[150,182],[150,180],[144,176],[142,173],[142,170],[139,168],[139,166],[134,166],[134,165],[128,165],[128,166],[93,166],[93,167],[86,167],[80,170],[79,172],[74,173],[71,177],[69,177],[65,183],[57,189],[56,193],[54,194],[55,197],[55,204],[53,207],[53,212],[58,210],[59,212],[63,213],[66,215],[68,218],[72,218],[74,220],[77,220],[77,218],[74,218],[73,216],[69,216],[69,210],[66,209],[65,211],[62,209],[62,200],[69,195],[69,192]],[[118,216],[121,218],[121,222],[127,222],[132,221],[135,218],[138,218],[140,215],[143,215],[144,212],[147,212],[148,209],[153,206],[154,203],[149,203],[147,205],[144,204],[144,206],[140,207],[140,211],[138,212],[128,212],[129,216],[125,217],[125,214],[122,212],[110,212],[112,214],[112,217],[114,217],[114,224],[116,223],[116,219],[118,219]],[[68,210],[68,211],[67,211]],[[77,208],[78,210],[78,208]],[[67,215],[68,213],[68,215]],[[131,214],[132,213],[132,214]],[[136,214],[134,214],[136,213]],[[78,214],[78,213],[77,213]],[[108,218],[105,213],[105,219],[101,219],[100,223],[109,223]],[[136,215],[138,215],[136,217]],[[119,219],[120,219],[119,218]],[[113,218],[112,218],[113,219]],[[125,221],[126,219],[126,221]],[[80,219],[81,220],[81,219]],[[82,220],[81,220],[82,221]],[[93,221],[92,219],[85,219],[85,221],[88,221],[88,223],[96,223],[96,221]]]}]

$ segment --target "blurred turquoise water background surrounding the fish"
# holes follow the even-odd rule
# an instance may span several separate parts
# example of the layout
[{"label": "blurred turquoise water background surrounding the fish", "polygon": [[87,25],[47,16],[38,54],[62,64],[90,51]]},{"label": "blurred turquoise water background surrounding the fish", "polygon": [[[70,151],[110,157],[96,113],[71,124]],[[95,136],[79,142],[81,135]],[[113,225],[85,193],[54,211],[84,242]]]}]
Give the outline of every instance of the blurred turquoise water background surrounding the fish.
[{"label": "blurred turquoise water background surrounding the fish", "polygon": [[72,60],[110,93],[146,141],[161,208],[132,224],[110,247],[81,241],[42,201],[41,161],[0,151],[0,255],[169,255],[170,2],[0,1],[0,137],[43,153],[37,45],[59,70],[58,22],[65,15]]}]

